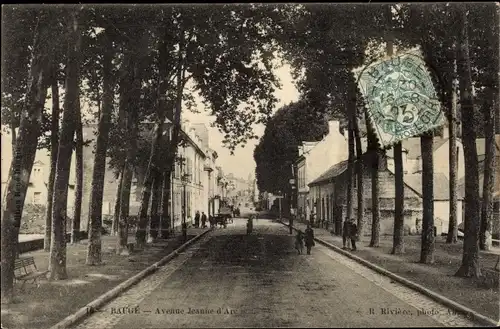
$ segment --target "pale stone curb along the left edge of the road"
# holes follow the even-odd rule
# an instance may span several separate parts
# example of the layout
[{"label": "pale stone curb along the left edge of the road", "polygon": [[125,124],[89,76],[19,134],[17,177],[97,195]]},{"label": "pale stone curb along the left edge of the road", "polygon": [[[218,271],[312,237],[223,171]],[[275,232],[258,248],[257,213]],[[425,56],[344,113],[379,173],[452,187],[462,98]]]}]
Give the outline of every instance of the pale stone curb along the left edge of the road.
[{"label": "pale stone curb along the left edge of the road", "polygon": [[124,282],[120,283],[118,286],[114,287],[110,291],[104,293],[103,295],[97,297],[95,300],[92,302],[88,303],[84,307],[80,308],[77,312],[67,316],[57,324],[53,325],[50,329],[62,329],[62,328],[69,328],[70,326],[74,325],[77,322],[80,322],[83,320],[85,317],[90,316],[92,313],[94,313],[96,310],[98,310],[100,307],[102,307],[104,304],[108,303],[111,301],[113,298],[118,296],[119,294],[123,293],[125,290],[129,289],[133,285],[137,284],[139,281],[144,279],[145,277],[153,274],[158,270],[159,267],[165,265],[167,262],[169,262],[171,259],[175,258],[179,253],[184,251],[187,247],[195,243],[197,240],[199,240],[202,236],[206,235],[208,232],[210,232],[211,229],[208,229],[191,240],[185,242],[182,244],[179,248],[175,249],[172,251],[170,254],[167,256],[163,257],[160,259],[158,262],[154,263],[153,265],[147,267],[146,269],[142,270],[141,272],[137,273],[131,278],[128,278]]}]

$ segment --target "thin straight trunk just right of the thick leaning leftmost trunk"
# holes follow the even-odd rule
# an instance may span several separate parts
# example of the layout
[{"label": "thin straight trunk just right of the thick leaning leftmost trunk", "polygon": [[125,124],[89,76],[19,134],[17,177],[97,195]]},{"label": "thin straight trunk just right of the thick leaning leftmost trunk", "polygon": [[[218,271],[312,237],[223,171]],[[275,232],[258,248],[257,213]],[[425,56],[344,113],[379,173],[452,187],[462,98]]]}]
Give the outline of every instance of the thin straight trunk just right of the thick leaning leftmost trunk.
[{"label": "thin straight trunk just right of the thick leaning leftmost trunk", "polygon": [[[54,65],[55,66],[55,65]],[[52,114],[50,128],[50,174],[47,183],[47,207],[45,209],[45,237],[43,239],[43,250],[50,251],[50,235],[52,234],[52,201],[54,199],[54,178],[56,176],[57,151],[59,149],[59,85],[57,73],[52,71]]]}]

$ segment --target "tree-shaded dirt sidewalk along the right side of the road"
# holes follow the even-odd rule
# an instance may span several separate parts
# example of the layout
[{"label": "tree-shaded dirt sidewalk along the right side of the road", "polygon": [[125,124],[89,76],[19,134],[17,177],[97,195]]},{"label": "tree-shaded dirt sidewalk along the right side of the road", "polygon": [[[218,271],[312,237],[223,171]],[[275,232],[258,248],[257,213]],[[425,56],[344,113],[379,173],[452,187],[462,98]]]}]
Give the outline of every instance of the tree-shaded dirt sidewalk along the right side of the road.
[{"label": "tree-shaded dirt sidewalk along the right side of the road", "polygon": [[[288,224],[288,220],[284,220]],[[302,231],[306,225],[294,222],[294,227]],[[323,228],[313,228],[314,236],[325,242],[342,248],[342,237],[332,235]],[[392,236],[381,236],[380,247],[370,248],[369,236],[357,243],[357,251],[353,253],[405,279],[420,284],[446,298],[469,307],[470,309],[492,319],[499,319],[498,281],[485,284],[474,278],[457,278],[453,275],[462,260],[462,242],[450,245],[444,237],[436,237],[434,259],[432,265],[418,263],[420,258],[420,236],[405,236],[405,254],[391,255]],[[481,251],[479,263],[482,268],[493,269],[499,255],[499,248],[492,251]]]}]

